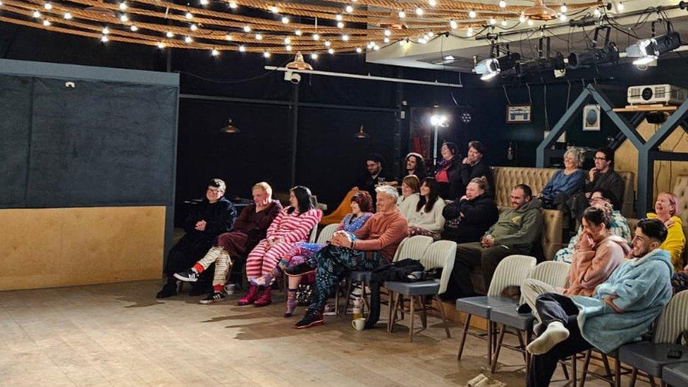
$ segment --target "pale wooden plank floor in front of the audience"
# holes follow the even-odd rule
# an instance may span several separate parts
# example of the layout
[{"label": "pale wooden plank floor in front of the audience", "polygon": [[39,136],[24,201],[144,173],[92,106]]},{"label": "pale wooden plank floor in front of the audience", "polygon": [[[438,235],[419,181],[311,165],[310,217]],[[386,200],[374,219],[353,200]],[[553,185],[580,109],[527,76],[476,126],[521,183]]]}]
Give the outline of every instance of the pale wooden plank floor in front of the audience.
[{"label": "pale wooden plank floor in front of the audience", "polygon": [[[238,307],[239,295],[216,305],[186,294],[156,300],[159,285],[0,292],[0,385],[464,386],[489,375],[482,340],[468,338],[457,362],[458,324],[447,339],[431,317],[414,343],[403,325],[392,335],[384,328],[358,332],[349,317],[298,331],[292,326],[302,308],[285,319],[282,302]],[[509,350],[500,361],[523,364]],[[518,368],[503,367],[493,379],[523,386]]]}]

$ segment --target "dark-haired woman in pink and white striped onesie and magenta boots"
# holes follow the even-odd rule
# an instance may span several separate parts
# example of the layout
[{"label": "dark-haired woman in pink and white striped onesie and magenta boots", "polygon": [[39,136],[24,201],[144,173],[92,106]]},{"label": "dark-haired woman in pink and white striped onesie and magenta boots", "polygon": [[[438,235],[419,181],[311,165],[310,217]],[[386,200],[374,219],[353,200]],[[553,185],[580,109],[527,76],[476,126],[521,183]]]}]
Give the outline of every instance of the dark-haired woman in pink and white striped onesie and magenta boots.
[{"label": "dark-haired woman in pink and white striped onesie and magenta boots", "polygon": [[[317,227],[322,211],[314,208],[311,191],[297,185],[289,190],[290,206],[280,211],[268,228],[267,238],[261,240],[248,254],[246,276],[249,280],[271,273],[296,242],[307,241],[311,230]],[[272,302],[270,284],[258,287],[251,284],[248,293],[238,305],[264,307]]]}]

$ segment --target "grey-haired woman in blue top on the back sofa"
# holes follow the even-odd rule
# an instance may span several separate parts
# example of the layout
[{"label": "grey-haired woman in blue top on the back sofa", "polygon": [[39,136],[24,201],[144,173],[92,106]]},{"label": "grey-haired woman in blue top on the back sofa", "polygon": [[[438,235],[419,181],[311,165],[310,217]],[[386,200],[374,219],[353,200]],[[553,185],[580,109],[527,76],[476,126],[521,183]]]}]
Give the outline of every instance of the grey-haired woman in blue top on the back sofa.
[{"label": "grey-haired woman in blue top on the back sofa", "polygon": [[585,184],[585,173],[580,168],[582,157],[578,149],[570,148],[564,154],[564,169],[554,173],[540,192],[542,207],[558,209]]}]

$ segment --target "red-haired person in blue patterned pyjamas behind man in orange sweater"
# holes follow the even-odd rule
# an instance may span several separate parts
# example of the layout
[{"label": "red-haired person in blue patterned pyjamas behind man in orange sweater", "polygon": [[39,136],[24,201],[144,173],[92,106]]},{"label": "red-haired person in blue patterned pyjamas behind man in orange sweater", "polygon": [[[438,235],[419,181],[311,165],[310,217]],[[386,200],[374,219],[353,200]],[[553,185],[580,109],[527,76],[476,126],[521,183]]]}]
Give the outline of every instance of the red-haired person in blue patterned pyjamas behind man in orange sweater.
[{"label": "red-haired person in blue patterned pyjamas behind man in orange sweater", "polygon": [[[372,210],[373,200],[370,195],[368,195],[368,192],[358,192],[351,198],[351,213],[344,217],[342,223],[339,223],[337,231],[344,231],[355,240],[353,233],[363,227],[368,219],[373,216],[371,213]],[[308,265],[310,268],[315,269],[317,267],[315,256],[317,252],[325,246],[326,244],[324,243],[296,242],[294,247],[292,247],[285,257],[281,259],[278,266],[276,266],[271,273],[251,280],[251,283],[259,287],[269,286],[272,279],[281,275],[282,271],[288,274],[290,269],[299,267],[299,265]],[[287,310],[284,313],[284,317],[291,317],[294,309],[296,309],[298,304],[296,301],[296,290],[301,282],[301,277],[300,275],[289,276]]]}]

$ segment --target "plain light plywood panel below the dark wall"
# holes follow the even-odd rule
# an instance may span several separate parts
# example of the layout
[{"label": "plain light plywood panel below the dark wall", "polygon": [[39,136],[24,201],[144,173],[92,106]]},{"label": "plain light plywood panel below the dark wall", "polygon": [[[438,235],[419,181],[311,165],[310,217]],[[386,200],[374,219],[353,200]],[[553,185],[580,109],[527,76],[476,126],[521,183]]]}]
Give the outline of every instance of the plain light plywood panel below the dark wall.
[{"label": "plain light plywood panel below the dark wall", "polygon": [[165,207],[0,209],[0,290],[161,277]]}]

